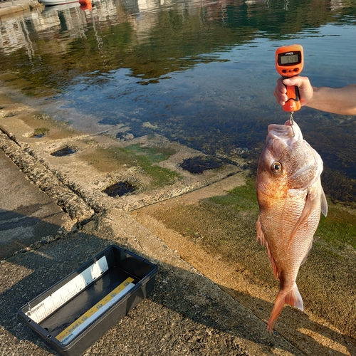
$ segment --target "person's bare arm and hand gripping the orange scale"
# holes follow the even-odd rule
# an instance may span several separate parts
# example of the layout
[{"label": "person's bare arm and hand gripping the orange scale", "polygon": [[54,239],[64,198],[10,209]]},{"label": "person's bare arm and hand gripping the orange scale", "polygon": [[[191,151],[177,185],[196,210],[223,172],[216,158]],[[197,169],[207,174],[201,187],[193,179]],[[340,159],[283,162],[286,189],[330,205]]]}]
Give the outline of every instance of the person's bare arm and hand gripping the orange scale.
[{"label": "person's bare arm and hand gripping the orange scale", "polygon": [[300,104],[326,112],[340,115],[356,115],[356,85],[343,88],[315,88],[307,77],[295,76],[282,80],[279,78],[274,96],[279,104],[286,103],[286,86],[296,85],[299,88]]}]

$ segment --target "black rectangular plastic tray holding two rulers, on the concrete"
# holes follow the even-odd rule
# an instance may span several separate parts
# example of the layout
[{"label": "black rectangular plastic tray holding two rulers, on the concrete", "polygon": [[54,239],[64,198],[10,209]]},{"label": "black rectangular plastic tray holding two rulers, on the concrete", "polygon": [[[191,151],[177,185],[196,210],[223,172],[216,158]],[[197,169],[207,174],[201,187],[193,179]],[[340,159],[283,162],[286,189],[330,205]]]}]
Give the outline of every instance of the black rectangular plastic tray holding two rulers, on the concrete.
[{"label": "black rectangular plastic tray holding two rulers, on the concrete", "polygon": [[78,356],[155,287],[158,267],[115,245],[19,310],[19,317],[60,355]]}]

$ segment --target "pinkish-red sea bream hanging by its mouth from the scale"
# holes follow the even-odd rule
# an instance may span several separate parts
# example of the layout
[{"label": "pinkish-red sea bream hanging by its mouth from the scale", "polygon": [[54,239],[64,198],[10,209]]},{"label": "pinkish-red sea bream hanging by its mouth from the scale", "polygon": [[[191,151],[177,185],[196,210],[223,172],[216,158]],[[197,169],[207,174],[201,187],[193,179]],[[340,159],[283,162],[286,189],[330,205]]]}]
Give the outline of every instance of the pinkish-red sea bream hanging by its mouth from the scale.
[{"label": "pinkish-red sea bream hanging by its mouth from the scale", "polygon": [[268,320],[271,333],[285,304],[303,310],[295,283],[313,244],[320,211],[328,203],[321,187],[323,161],[294,122],[269,125],[258,161],[256,191],[260,213],[257,239],[266,245],[273,272],[281,286]]}]

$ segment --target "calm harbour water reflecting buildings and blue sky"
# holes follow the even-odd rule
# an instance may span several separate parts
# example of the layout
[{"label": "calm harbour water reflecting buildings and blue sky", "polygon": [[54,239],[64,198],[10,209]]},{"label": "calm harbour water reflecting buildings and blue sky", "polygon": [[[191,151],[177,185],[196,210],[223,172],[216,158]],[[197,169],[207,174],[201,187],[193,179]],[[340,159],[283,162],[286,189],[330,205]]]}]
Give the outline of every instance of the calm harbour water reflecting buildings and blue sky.
[{"label": "calm harbour water reflecting buildings and blue sky", "polygon": [[[355,1],[54,6],[0,22],[0,80],[81,130],[156,132],[256,160],[267,125],[288,118],[273,97],[274,52],[293,43],[314,85],[356,83]],[[325,191],[356,201],[355,117],[302,108],[295,120],[323,157]]]}]

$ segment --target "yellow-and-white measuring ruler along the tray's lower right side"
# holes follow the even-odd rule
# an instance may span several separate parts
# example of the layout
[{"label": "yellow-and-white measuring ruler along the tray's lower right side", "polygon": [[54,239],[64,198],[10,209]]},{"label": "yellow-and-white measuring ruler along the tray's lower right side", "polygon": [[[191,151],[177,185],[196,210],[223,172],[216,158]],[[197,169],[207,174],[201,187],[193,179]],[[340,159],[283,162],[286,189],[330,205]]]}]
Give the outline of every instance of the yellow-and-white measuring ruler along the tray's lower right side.
[{"label": "yellow-and-white measuring ruler along the tray's lower right side", "polygon": [[99,318],[100,315],[103,315],[103,313],[114,305],[122,295],[135,287],[135,284],[132,283],[133,281],[134,279],[131,277],[126,278],[125,281],[113,289],[102,300],[81,315],[80,318],[71,323],[68,328],[62,331],[62,333],[58,334],[56,339],[64,345],[68,344],[68,342],[73,340],[75,336],[79,335],[85,328],[87,328],[93,320]]}]

